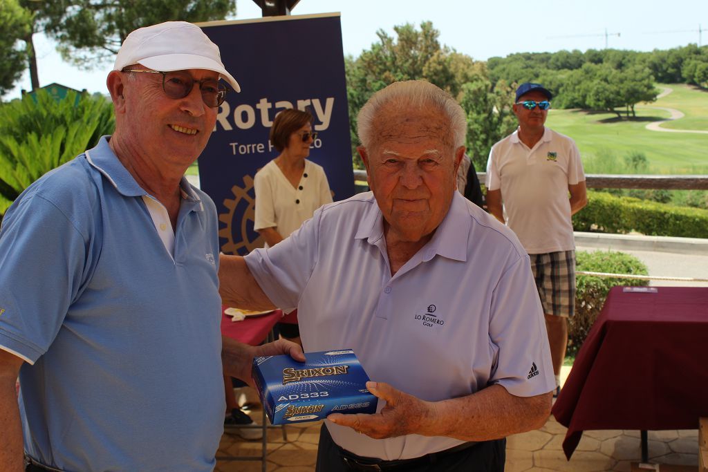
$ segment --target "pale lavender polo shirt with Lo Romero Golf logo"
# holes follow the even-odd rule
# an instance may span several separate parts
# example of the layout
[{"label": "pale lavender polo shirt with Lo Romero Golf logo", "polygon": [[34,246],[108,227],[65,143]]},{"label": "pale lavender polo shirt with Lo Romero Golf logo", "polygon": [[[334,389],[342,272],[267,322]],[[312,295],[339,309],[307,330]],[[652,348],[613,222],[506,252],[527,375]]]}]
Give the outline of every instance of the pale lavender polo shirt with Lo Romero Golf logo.
[{"label": "pale lavender polo shirt with Lo Romero Golf logo", "polygon": [[[306,352],[351,348],[373,381],[426,401],[490,384],[515,396],[555,386],[529,257],[512,231],[459,192],[433,238],[394,276],[372,192],[321,207],[246,263],[274,304],[297,306]],[[418,434],[372,439],[327,427],[344,449],[384,460],[462,442]]]}]

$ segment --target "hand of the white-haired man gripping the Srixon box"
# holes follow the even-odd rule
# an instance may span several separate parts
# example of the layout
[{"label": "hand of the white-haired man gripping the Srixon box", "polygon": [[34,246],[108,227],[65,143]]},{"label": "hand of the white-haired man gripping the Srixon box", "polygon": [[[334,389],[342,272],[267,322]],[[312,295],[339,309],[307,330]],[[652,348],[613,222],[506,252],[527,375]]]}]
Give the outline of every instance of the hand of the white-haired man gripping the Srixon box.
[{"label": "hand of the white-haired man gripping the Srixon box", "polygon": [[386,406],[379,413],[332,413],[327,419],[374,439],[384,439],[404,434],[424,434],[428,422],[435,418],[434,403],[396,390],[384,382],[367,382],[366,387],[379,399],[386,401]]}]

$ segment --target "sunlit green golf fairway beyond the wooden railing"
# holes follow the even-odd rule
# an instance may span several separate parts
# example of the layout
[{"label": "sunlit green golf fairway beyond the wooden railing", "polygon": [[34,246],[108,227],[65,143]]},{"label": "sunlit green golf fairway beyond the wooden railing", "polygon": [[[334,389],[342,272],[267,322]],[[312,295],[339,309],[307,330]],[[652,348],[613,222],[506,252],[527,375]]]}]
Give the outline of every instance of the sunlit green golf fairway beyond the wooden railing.
[{"label": "sunlit green golf fairway beyond the wooden railing", "polygon": [[637,105],[636,118],[617,120],[613,113],[580,110],[551,110],[547,126],[575,139],[586,173],[633,173],[625,156],[643,153],[650,173],[708,174],[708,134],[656,132],[646,129],[652,121],[669,117],[665,110],[675,108],[685,117],[661,127],[708,131],[708,92],[683,84],[658,85],[673,92],[654,103]]}]

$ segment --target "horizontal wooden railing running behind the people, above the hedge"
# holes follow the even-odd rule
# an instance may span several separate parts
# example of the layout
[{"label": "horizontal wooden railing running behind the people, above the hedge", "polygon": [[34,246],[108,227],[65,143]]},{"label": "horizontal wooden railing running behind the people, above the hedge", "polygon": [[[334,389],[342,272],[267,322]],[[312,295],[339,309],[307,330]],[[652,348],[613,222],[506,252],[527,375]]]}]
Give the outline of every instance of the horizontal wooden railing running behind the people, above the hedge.
[{"label": "horizontal wooden railing running behind the people, above the hedge", "polygon": [[[478,172],[484,183],[486,173]],[[354,171],[355,180],[366,180],[366,171]],[[588,188],[644,188],[665,190],[708,190],[708,175],[586,175]]]}]

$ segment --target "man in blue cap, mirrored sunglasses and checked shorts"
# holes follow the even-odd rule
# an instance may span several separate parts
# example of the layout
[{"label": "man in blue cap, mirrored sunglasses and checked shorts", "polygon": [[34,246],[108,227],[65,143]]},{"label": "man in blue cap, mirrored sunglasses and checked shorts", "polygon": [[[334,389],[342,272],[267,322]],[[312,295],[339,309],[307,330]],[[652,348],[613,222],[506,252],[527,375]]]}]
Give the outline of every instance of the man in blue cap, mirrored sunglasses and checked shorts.
[{"label": "man in blue cap, mirrored sunglasses and checked shorts", "polygon": [[588,200],[578,147],[573,139],[544,126],[552,98],[541,84],[526,82],[516,90],[513,110],[519,127],[492,146],[486,203],[530,255],[546,318],[557,396],[568,344],[568,318],[575,310],[571,216]]}]

